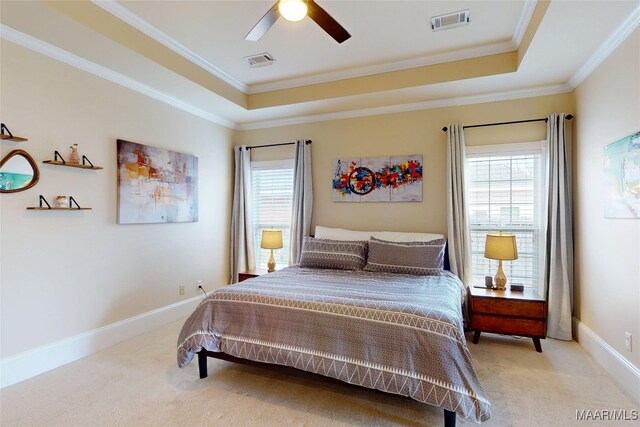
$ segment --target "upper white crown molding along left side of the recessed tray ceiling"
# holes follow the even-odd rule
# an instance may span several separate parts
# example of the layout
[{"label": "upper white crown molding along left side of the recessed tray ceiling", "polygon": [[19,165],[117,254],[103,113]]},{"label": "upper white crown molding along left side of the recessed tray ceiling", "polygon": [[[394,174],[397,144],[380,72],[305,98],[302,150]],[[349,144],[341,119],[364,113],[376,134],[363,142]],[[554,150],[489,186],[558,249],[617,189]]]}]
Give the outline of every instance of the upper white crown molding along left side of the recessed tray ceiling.
[{"label": "upper white crown molding along left side of the recessed tray ceiling", "polygon": [[131,12],[126,7],[121,6],[119,3],[115,1],[91,0],[91,2],[96,6],[98,6],[99,8],[103,9],[104,11],[109,12],[116,18],[131,25],[133,28],[143,32],[144,34],[151,37],[158,43],[162,44],[163,46],[171,49],[172,51],[182,56],[183,58],[187,59],[188,61],[191,61],[193,64],[197,65],[198,67],[205,69],[209,73],[218,77],[220,80],[230,84],[231,86],[244,92],[245,94],[247,93],[247,90],[249,89],[247,85],[236,80],[230,74],[227,74],[222,69],[216,67],[215,65],[213,65],[212,63],[210,63],[209,61],[207,61],[197,53],[188,49],[184,45],[178,43],[175,39],[169,37],[166,33],[160,31],[158,28],[154,27],[149,22],[140,18],[138,15]]}]

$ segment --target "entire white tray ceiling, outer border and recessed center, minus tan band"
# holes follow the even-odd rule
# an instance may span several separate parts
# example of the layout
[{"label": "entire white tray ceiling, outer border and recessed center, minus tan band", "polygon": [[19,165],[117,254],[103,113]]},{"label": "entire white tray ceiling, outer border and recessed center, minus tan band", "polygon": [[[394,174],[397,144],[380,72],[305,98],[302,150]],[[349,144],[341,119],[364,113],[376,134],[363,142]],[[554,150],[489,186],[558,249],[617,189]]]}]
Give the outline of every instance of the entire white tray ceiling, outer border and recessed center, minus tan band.
[{"label": "entire white tray ceiling, outer border and recessed center, minus tan band", "polygon": [[[352,37],[336,43],[309,18],[280,18],[258,42],[244,36],[273,1],[97,1],[244,94],[461,60],[519,47],[535,1],[317,0]],[[100,7],[98,9],[97,6]],[[517,71],[247,109],[176,72],[97,21],[42,2],[2,1],[2,37],[229,127],[249,129],[571,90],[640,23],[640,1],[551,2]],[[471,23],[433,32],[430,17],[471,10]],[[276,62],[248,67],[244,56]],[[202,71],[202,70],[200,70]],[[245,95],[242,95],[245,96]],[[252,95],[247,95],[252,96]]]}]

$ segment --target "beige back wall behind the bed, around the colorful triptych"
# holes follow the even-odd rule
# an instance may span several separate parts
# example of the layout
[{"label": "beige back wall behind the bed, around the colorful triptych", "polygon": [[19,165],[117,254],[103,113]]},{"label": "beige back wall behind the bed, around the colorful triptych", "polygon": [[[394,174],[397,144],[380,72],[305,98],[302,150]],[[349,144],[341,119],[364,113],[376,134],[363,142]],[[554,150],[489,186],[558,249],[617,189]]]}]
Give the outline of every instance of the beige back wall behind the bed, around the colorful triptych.
[{"label": "beige back wall behind the bed, around the colorful triptych", "polygon": [[[440,108],[383,116],[293,125],[238,132],[236,144],[260,145],[313,141],[314,209],[312,227],[324,225],[356,230],[447,232],[445,170],[449,123],[491,123],[573,113],[572,94]],[[545,139],[544,122],[469,129],[467,144],[539,141]],[[269,152],[278,150],[278,152]],[[265,148],[253,158],[291,156],[291,150]],[[334,203],[331,195],[333,160],[339,157],[422,154],[424,194],[421,203]]]}]

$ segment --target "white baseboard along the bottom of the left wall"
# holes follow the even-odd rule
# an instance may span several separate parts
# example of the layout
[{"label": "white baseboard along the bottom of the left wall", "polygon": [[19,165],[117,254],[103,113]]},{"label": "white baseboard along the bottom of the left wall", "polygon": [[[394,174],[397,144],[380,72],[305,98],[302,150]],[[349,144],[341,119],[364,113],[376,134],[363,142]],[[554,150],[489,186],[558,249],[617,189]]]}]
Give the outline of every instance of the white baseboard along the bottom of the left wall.
[{"label": "white baseboard along the bottom of the left wall", "polygon": [[202,300],[190,298],[0,361],[0,388],[66,365],[92,353],[188,316]]}]

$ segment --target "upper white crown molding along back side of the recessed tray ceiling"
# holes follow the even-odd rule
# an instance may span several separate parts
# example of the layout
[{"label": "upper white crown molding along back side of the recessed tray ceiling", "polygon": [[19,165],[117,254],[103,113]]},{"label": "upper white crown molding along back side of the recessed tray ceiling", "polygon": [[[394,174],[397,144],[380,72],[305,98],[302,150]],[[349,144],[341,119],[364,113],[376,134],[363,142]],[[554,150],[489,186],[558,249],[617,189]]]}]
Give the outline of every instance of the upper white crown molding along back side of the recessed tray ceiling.
[{"label": "upper white crown molding along back side of the recessed tray ceiling", "polygon": [[462,61],[464,59],[478,58],[481,56],[496,55],[516,50],[512,40],[492,43],[485,46],[460,49],[437,55],[427,55],[404,61],[390,62],[386,64],[371,65],[367,67],[350,68],[348,70],[334,71],[324,74],[315,74],[308,77],[287,79],[271,83],[263,83],[249,86],[248,95],[254,93],[271,92],[274,90],[291,89],[294,87],[309,86],[319,83],[328,83],[337,80],[364,77],[373,74],[390,73],[393,71],[408,70],[427,65],[443,64],[446,62]]}]

